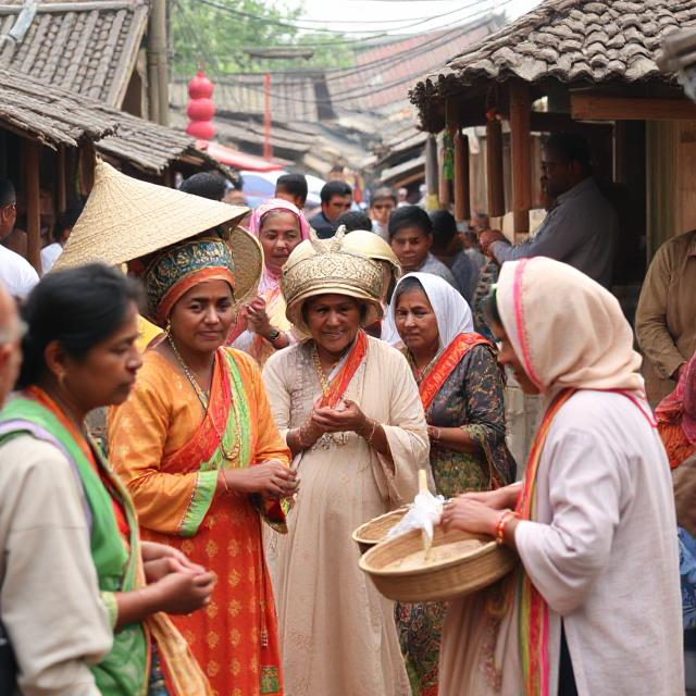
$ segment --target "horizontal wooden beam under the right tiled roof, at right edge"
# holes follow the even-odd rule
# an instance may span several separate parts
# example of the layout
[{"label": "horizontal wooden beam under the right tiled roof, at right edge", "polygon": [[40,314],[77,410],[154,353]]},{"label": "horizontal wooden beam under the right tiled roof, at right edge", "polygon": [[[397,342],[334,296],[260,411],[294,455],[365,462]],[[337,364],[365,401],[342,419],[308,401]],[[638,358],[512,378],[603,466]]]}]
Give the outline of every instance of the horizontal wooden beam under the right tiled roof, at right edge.
[{"label": "horizontal wooden beam under the right tiled roof, at right edge", "polygon": [[573,119],[599,121],[694,121],[696,104],[687,99],[611,97],[592,92],[572,92]]}]

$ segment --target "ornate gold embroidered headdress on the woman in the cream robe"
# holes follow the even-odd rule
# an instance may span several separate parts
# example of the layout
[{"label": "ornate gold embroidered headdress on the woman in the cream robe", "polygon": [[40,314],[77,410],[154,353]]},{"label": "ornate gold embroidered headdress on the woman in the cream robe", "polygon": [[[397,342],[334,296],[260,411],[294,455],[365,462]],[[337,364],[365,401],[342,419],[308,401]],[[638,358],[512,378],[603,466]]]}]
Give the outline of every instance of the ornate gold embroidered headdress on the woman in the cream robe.
[{"label": "ornate gold embroidered headdress on the woman in the cream robe", "polygon": [[347,295],[368,307],[364,325],[382,316],[380,294],[382,269],[370,259],[344,249],[345,228],[331,239],[312,237],[299,244],[283,266],[281,289],[287,303],[286,315],[309,334],[302,316],[304,302],[318,295]]}]

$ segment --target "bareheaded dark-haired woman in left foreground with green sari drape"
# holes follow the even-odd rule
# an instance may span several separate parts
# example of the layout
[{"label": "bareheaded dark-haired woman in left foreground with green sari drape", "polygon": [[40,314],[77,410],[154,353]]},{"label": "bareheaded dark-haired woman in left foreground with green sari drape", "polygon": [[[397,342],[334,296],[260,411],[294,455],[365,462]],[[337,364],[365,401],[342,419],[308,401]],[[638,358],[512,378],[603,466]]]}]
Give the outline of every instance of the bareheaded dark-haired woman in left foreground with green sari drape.
[{"label": "bareheaded dark-haired woman in left foreground with green sari drape", "polygon": [[21,393],[0,414],[2,622],[23,694],[188,696],[206,678],[166,616],[211,573],[140,543],[130,498],[85,418],[135,383],[139,288],[100,264],[49,274],[24,308]]}]

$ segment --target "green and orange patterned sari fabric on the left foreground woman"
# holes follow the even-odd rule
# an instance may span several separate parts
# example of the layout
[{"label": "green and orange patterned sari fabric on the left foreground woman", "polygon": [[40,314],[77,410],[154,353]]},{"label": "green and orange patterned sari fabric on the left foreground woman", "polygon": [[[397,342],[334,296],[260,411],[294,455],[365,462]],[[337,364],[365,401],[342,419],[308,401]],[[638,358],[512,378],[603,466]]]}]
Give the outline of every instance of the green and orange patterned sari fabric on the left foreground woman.
[{"label": "green and orange patterned sari fabric on the left foreground woman", "polygon": [[[28,433],[55,445],[79,476],[90,527],[90,547],[101,597],[112,626],[117,621],[114,593],[145,586],[135,509],[94,443],[88,443],[41,389],[32,387],[3,410],[2,438]],[[209,694],[209,685],[186,644],[163,614],[122,626],[109,655],[91,668],[104,696],[187,696]],[[153,692],[159,675],[159,691]]]}]

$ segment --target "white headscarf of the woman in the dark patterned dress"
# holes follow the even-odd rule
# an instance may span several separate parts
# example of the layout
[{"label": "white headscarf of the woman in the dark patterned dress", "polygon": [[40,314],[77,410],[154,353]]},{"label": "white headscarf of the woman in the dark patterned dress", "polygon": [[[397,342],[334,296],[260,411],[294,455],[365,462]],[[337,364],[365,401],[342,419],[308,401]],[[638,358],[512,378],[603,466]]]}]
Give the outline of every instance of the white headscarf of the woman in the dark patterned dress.
[{"label": "white headscarf of the woman in the dark patterned dress", "polygon": [[420,282],[437,319],[439,347],[447,348],[459,334],[471,334],[474,321],[467,300],[445,279],[432,273],[407,273],[394,290],[394,299],[389,307],[389,322],[396,326],[396,297],[398,287],[407,278]]}]

